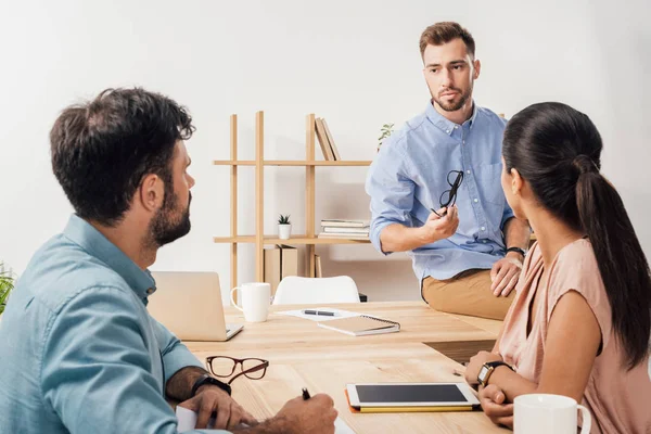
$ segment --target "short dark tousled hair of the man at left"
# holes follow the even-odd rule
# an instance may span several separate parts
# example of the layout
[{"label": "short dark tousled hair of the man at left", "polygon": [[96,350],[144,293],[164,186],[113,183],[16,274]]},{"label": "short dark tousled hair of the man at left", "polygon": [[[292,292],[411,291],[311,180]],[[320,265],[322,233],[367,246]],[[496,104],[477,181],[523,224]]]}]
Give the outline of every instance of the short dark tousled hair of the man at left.
[{"label": "short dark tousled hair of the man at left", "polygon": [[77,215],[115,226],[148,174],[173,192],[178,140],[194,132],[184,107],[143,89],[106,89],[65,108],[50,131],[52,170]]}]

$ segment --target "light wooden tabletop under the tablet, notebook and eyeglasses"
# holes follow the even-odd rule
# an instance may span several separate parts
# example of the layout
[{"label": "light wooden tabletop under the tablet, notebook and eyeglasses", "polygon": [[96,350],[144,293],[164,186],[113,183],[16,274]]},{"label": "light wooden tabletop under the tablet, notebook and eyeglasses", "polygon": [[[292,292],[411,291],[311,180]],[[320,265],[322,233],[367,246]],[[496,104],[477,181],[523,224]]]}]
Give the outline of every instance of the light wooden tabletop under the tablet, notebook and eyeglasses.
[{"label": "light wooden tabletop under the tablet, notebook and eyeglasses", "polygon": [[[340,417],[356,433],[506,433],[482,412],[355,414],[344,388],[362,382],[461,381],[460,366],[423,343],[486,340],[497,336],[499,321],[469,319],[430,309],[420,302],[331,305],[400,322],[399,333],[348,336],[315,322],[278,314],[263,323],[245,323],[227,343],[186,342],[200,358],[208,355],[261,357],[270,361],[261,380],[239,378],[233,397],[258,419],[273,416],[302,387],[333,397]],[[273,306],[272,311],[302,306]],[[243,322],[227,309],[228,322]]]}]

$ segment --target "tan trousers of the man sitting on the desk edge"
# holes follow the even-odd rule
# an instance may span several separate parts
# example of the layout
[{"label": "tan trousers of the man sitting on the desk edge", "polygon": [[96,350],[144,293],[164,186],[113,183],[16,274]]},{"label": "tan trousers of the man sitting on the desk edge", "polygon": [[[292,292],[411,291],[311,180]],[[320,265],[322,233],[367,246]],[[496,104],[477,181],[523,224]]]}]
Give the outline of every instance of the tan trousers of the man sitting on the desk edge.
[{"label": "tan trousers of the man sitting on the desk edge", "polygon": [[423,299],[433,309],[503,320],[515,298],[515,290],[508,297],[496,297],[490,284],[490,270],[473,269],[446,280],[425,278],[421,291]]}]

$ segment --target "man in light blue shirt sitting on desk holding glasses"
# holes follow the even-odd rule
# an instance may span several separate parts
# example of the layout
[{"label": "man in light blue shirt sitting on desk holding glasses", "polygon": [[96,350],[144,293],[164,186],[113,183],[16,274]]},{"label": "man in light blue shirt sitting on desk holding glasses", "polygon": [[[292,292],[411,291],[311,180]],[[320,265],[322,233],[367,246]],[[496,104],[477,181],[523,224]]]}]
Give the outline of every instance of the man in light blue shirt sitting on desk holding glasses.
[{"label": "man in light blue shirt sitting on desk holding glasses", "polygon": [[371,242],[410,252],[433,308],[503,319],[529,239],[501,190],[506,122],[472,100],[481,64],[467,29],[430,26],[420,51],[432,100],[370,167]]}]

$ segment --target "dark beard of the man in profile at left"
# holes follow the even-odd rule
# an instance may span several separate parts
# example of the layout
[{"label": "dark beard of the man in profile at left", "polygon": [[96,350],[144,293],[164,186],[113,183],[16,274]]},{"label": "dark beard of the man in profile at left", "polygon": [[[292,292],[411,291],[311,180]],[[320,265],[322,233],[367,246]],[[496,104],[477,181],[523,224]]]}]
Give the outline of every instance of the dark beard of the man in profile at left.
[{"label": "dark beard of the man in profile at left", "polygon": [[188,199],[188,207],[178,216],[179,197],[174,191],[165,192],[163,207],[158,209],[152,221],[150,222],[150,240],[161,247],[169,244],[173,241],[184,237],[190,232],[190,202],[192,202],[192,193]]}]

